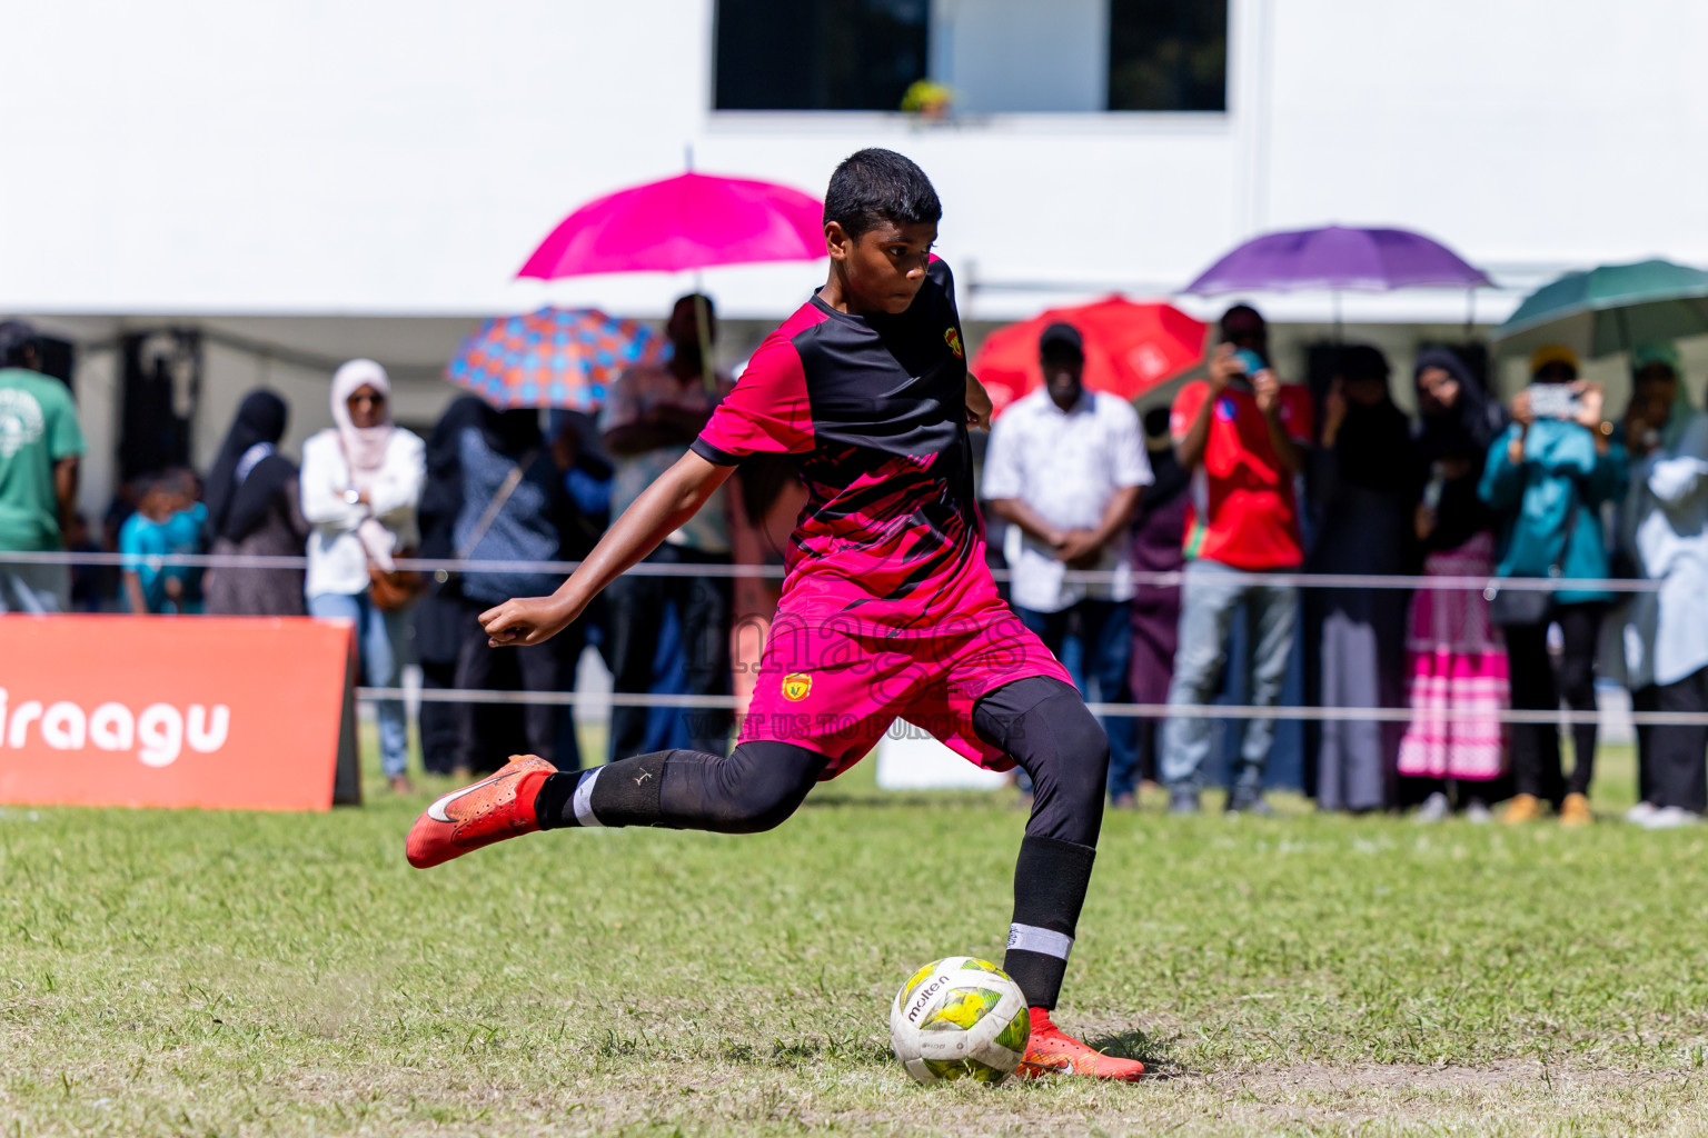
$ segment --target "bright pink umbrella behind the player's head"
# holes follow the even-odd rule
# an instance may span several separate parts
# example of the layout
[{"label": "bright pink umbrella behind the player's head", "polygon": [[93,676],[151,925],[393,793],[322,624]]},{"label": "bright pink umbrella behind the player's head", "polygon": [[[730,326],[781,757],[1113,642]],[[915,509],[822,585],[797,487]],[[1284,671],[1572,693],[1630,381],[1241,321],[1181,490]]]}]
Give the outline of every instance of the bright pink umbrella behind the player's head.
[{"label": "bright pink umbrella behind the player's head", "polygon": [[565,217],[518,276],[676,273],[825,256],[823,205],[775,183],[680,174]]}]

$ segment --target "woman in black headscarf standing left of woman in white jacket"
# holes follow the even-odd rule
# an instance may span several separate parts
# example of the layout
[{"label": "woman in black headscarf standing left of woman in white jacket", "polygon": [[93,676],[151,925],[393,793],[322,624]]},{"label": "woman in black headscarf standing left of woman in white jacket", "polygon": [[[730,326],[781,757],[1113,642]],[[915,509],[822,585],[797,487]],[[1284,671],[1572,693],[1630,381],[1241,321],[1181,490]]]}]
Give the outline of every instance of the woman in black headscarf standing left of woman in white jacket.
[{"label": "woman in black headscarf standing left of woman in white jacket", "polygon": [[[272,391],[251,391],[208,474],[208,539],[220,556],[302,556],[309,524],[295,462],[278,454],[290,411]],[[215,565],[203,578],[207,611],[222,616],[302,616],[302,570]]]}]

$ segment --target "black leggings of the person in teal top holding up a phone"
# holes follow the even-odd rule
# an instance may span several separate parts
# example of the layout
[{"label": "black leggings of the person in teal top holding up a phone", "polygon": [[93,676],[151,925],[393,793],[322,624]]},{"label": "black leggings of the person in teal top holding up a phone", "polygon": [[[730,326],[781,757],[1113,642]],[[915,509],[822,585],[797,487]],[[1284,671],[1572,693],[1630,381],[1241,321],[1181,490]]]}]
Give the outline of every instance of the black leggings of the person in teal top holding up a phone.
[{"label": "black leggings of the person in teal top holding up a phone", "polygon": [[[1558,674],[1547,655],[1546,623],[1506,630],[1513,708],[1554,711],[1565,700],[1573,711],[1595,710],[1595,642],[1604,611],[1606,606],[1595,602],[1554,609],[1553,621],[1565,636]],[[1576,763],[1566,780],[1559,771],[1559,730],[1553,723],[1513,723],[1513,788],[1554,805],[1568,793],[1588,793],[1595,775],[1595,723],[1573,723],[1571,744]]]}]

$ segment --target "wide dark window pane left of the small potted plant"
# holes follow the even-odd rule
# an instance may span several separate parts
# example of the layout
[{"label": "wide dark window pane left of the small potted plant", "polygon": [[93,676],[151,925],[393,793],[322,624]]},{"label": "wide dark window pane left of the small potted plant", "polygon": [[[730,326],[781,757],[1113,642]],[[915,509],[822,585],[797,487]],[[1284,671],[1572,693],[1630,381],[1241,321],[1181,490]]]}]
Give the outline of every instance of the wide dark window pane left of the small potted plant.
[{"label": "wide dark window pane left of the small potted plant", "polygon": [[719,111],[895,111],[926,75],[929,0],[719,0]]}]

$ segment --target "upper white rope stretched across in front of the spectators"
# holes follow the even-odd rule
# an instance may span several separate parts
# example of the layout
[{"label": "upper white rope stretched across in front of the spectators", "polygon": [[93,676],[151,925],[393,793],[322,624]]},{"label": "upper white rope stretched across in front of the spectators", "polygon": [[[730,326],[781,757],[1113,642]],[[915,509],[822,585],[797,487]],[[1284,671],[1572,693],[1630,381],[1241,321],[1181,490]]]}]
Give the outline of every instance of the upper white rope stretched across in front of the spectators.
[{"label": "upper white rope stretched across in front of the spectators", "polygon": [[[306,556],[249,556],[237,553],[171,553],[133,556],[123,553],[10,553],[0,551],[0,565],[104,565],[128,568],[145,565],[150,570],[166,565],[184,565],[191,568],[258,568],[258,570],[301,570],[307,568]],[[567,577],[581,561],[463,561],[456,558],[398,558],[398,568],[422,573],[552,573]],[[671,565],[640,561],[625,575],[634,577],[784,577],[781,565]],[[991,575],[1006,582],[1009,572],[992,568]],[[1136,585],[1172,589],[1182,585],[1190,573],[1185,572],[1144,572],[1114,573],[1110,570],[1066,570],[1062,577],[1078,584],[1110,584],[1117,577],[1126,577]],[[1658,580],[1628,578],[1566,578],[1566,577],[1385,577],[1368,573],[1240,573],[1238,577],[1218,577],[1218,585],[1281,585],[1296,589],[1404,589],[1435,592],[1488,592],[1505,589],[1512,592],[1660,592]]]}]

